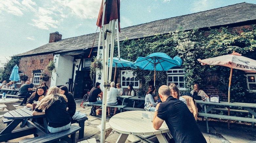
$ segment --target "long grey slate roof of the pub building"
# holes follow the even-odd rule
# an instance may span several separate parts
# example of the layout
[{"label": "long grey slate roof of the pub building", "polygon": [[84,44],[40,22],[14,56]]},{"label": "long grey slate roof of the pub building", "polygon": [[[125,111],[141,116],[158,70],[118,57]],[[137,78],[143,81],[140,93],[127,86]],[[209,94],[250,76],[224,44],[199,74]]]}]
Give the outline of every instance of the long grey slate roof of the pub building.
[{"label": "long grey slate roof of the pub building", "polygon": [[[155,34],[165,34],[175,31],[180,26],[183,27],[184,30],[190,30],[195,27],[206,28],[248,22],[252,20],[256,20],[256,5],[249,3],[239,3],[222,8],[216,8],[203,12],[121,28],[121,33],[119,33],[119,40],[122,41],[126,38],[131,40],[154,36]],[[29,56],[54,52],[65,53],[79,50],[81,51],[83,48],[92,47],[95,34],[96,40],[94,47],[97,47],[98,33],[92,33],[48,43],[18,56]]]}]

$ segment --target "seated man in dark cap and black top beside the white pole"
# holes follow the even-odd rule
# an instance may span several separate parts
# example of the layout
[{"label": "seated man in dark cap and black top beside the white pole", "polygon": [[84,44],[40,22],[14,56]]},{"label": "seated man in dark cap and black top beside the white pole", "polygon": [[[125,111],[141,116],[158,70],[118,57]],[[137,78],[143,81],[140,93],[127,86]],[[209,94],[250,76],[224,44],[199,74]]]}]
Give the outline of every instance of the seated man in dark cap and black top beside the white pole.
[{"label": "seated man in dark cap and black top beside the white pole", "polygon": [[[102,104],[101,100],[98,100],[98,95],[102,99],[103,92],[99,87],[100,83],[96,82],[95,87],[93,87],[89,93],[89,103],[90,104]],[[96,109],[98,109],[101,106],[93,106],[90,115],[96,116]]]}]

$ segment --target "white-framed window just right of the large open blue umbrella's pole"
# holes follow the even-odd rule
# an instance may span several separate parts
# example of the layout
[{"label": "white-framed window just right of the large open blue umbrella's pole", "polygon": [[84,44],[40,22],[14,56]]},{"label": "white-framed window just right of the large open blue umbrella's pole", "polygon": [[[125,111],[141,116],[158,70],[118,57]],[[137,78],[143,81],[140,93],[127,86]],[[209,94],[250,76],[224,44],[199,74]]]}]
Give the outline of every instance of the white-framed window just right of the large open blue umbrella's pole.
[{"label": "white-framed window just right of the large open blue umbrella's pole", "polygon": [[[174,71],[177,71],[177,72],[174,72]],[[185,72],[184,69],[170,69],[170,70],[168,70],[166,73],[167,73],[167,79],[166,79],[167,85],[168,85],[169,83],[177,83],[177,82],[174,82],[174,81],[168,81],[169,77],[172,77],[172,79],[173,79],[173,77],[178,77],[178,85],[176,85],[176,86],[177,86],[180,90],[186,90],[186,89],[187,89],[187,88],[186,88],[187,82],[185,81],[185,77],[184,77],[184,75],[185,75],[186,72]],[[179,77],[183,77],[183,78],[184,78],[184,81],[183,81],[183,82],[179,81],[179,80],[180,80]],[[183,87],[183,88],[180,87],[180,83],[183,83],[183,84],[184,84],[184,87]]]}]

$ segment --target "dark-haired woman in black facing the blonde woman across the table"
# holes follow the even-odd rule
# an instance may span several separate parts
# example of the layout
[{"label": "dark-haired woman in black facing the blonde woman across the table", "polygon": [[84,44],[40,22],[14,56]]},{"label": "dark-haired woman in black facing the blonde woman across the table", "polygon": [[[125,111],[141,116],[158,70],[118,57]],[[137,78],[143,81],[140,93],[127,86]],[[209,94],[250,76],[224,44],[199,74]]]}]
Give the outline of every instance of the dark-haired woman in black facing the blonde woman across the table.
[{"label": "dark-haired woman in black facing the blonde woman across the table", "polygon": [[33,101],[38,101],[39,97],[42,95],[45,95],[46,92],[47,92],[46,87],[44,87],[44,86],[37,87],[35,92],[32,93],[32,95],[29,97],[26,106],[32,107]]}]

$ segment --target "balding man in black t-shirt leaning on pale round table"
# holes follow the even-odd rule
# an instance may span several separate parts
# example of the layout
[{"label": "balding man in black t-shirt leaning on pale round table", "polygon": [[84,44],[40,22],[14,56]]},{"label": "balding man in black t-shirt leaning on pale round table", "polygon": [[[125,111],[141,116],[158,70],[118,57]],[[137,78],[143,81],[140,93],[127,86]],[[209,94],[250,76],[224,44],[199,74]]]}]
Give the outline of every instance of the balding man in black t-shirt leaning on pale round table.
[{"label": "balding man in black t-shirt leaning on pale round table", "polygon": [[186,104],[171,96],[171,90],[163,85],[159,88],[162,103],[157,104],[153,127],[157,130],[166,122],[175,143],[206,143],[193,114]]}]

